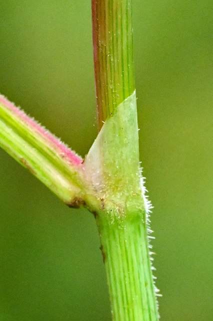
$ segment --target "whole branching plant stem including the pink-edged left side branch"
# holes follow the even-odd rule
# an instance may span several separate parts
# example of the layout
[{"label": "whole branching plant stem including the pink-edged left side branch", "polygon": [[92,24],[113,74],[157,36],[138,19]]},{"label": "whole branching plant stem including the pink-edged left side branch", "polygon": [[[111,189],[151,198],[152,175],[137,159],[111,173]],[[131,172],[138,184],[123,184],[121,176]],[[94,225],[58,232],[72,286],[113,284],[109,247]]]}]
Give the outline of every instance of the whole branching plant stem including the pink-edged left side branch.
[{"label": "whole branching plant stem including the pink-edged left side branch", "polygon": [[[113,321],[158,320],[139,169],[131,0],[92,0],[99,133],[82,163],[0,96],[0,146],[67,205],[95,214]],[[104,124],[103,124],[104,123]]]}]

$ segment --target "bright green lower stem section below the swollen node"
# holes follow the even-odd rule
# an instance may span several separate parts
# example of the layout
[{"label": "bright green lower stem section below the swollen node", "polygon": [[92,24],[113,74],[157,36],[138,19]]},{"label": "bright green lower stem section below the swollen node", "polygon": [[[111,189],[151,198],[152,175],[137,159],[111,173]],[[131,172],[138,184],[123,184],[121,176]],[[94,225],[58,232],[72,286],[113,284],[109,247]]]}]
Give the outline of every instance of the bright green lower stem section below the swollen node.
[{"label": "bright green lower stem section below the swollen node", "polygon": [[97,216],[114,321],[157,320],[146,226],[140,215],[121,225]]}]

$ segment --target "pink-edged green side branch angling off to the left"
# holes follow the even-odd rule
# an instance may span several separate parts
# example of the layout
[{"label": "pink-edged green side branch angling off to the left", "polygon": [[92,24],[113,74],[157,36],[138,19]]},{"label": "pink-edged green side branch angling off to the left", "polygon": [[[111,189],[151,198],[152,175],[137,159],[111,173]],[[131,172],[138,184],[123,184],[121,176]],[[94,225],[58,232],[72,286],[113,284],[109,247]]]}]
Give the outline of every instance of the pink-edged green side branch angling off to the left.
[{"label": "pink-edged green side branch angling off to the left", "polygon": [[0,147],[65,203],[81,196],[81,158],[1,95]]}]

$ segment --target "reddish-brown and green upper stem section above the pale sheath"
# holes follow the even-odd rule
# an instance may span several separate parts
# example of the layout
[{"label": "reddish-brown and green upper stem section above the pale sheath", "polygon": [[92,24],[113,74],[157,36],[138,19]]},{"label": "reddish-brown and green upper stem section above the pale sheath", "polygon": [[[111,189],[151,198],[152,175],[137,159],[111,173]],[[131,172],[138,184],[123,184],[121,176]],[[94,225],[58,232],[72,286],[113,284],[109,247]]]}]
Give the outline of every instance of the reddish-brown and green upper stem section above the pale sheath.
[{"label": "reddish-brown and green upper stem section above the pale sheath", "polygon": [[131,0],[92,0],[93,54],[99,129],[134,91]]}]

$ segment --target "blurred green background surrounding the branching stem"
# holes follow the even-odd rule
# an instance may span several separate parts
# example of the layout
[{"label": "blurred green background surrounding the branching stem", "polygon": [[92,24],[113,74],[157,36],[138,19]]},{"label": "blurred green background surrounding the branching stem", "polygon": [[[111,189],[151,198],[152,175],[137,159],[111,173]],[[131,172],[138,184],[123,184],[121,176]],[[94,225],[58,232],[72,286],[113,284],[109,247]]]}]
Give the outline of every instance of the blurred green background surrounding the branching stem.
[{"label": "blurred green background surrounding the branching stem", "polygon": [[[133,0],[140,155],[164,321],[213,319],[212,1]],[[96,135],[90,2],[0,0],[0,92],[81,155]],[[95,221],[0,150],[0,321],[109,321]]]}]

